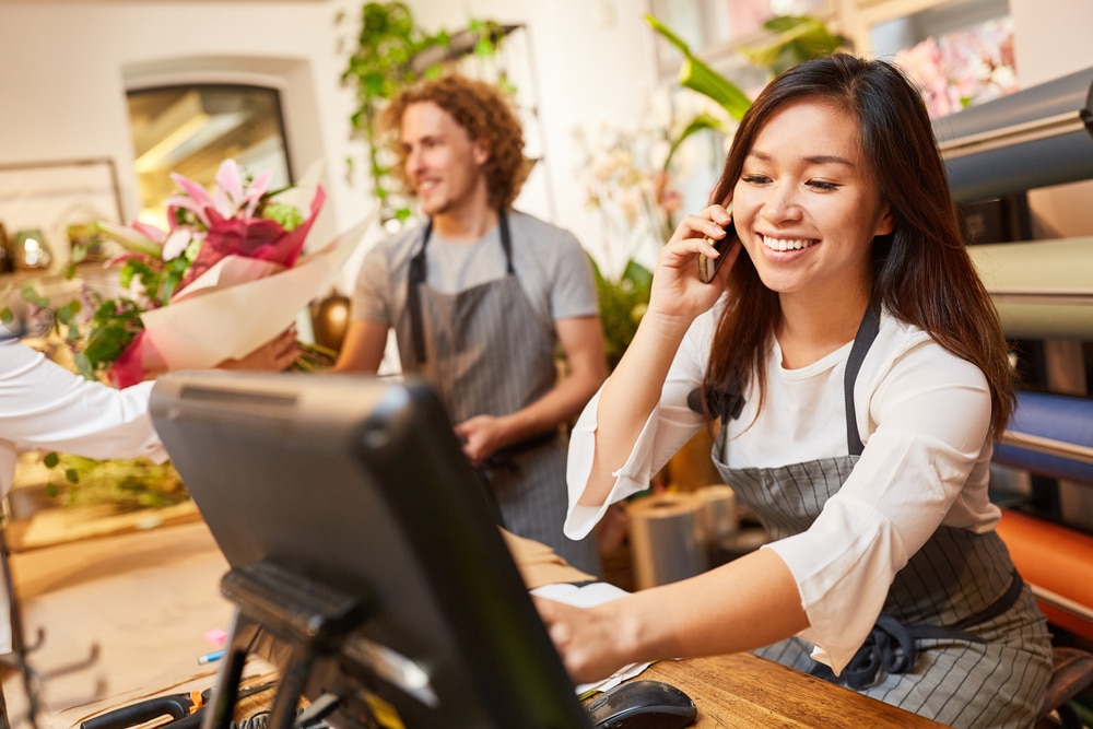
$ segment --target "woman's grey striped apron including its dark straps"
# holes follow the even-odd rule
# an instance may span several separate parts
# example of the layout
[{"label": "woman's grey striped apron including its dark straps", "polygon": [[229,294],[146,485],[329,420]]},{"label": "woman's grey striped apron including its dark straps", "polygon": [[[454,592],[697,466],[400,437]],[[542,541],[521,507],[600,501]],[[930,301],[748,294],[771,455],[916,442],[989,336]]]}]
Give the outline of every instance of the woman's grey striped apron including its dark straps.
[{"label": "woman's grey striped apron including its dark straps", "polygon": [[[854,383],[879,321],[871,306],[846,364],[847,456],[731,469],[720,458],[721,428],[718,471],[773,539],[806,531],[861,455]],[[877,625],[837,679],[811,650],[794,637],[755,652],[951,727],[1032,727],[1051,677],[1046,622],[994,531],[939,527],[896,574]]]}]

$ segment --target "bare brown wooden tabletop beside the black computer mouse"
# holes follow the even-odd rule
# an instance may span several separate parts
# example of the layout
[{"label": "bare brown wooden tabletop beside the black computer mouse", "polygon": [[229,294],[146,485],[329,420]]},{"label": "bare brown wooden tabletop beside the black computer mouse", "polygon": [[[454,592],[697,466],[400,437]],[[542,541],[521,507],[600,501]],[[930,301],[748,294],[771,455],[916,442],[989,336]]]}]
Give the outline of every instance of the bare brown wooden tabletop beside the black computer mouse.
[{"label": "bare brown wooden tabletop beside the black computer mouse", "polygon": [[944,725],[752,654],[660,661],[640,678],[694,699],[697,729],[937,729]]}]

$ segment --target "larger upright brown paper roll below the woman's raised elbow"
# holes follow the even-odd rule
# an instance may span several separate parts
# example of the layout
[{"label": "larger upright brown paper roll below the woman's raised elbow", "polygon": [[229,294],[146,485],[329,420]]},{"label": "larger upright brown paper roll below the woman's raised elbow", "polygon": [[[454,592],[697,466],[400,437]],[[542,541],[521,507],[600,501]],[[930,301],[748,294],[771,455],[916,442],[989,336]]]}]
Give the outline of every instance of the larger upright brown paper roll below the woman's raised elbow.
[{"label": "larger upright brown paper roll below the woman's raised elbow", "polygon": [[647,496],[626,507],[637,589],[693,577],[709,567],[704,502],[694,493]]}]

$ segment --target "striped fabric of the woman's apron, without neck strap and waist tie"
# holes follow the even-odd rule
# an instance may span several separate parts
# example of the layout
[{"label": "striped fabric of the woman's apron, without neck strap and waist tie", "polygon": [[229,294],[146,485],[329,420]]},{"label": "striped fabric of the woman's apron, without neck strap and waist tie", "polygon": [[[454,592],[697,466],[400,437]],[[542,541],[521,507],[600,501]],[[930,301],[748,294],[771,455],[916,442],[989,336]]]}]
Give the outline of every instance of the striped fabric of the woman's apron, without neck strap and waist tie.
[{"label": "striped fabric of the woman's apron, without neck strap and waist tie", "polygon": [[[856,461],[719,470],[738,502],[783,538],[809,528]],[[896,575],[884,612],[905,624],[953,625],[1004,593],[1012,571],[996,533],[941,527]],[[1051,675],[1051,650],[1027,586],[1008,612],[969,631],[986,643],[920,640],[913,672],[881,674],[861,693],[952,727],[1031,727]],[[811,646],[799,638],[756,652],[806,672],[815,667]]]}]

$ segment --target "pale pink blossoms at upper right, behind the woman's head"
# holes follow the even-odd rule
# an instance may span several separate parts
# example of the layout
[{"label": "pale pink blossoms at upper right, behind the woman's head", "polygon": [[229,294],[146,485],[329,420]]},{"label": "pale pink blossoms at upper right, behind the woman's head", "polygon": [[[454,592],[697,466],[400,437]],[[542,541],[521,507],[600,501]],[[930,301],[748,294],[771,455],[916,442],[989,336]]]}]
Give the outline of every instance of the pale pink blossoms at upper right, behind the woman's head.
[{"label": "pale pink blossoms at upper right, behind the woman's head", "polygon": [[935,119],[1018,90],[1009,15],[926,38],[896,61],[919,85]]}]

